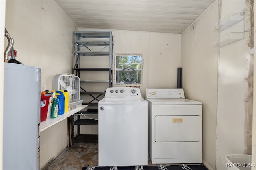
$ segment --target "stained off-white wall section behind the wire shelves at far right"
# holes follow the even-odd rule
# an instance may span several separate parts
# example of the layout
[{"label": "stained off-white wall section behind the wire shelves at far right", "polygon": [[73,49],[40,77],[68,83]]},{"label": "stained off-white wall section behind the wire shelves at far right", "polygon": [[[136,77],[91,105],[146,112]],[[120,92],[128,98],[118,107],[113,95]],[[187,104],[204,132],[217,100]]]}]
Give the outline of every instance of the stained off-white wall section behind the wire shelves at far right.
[{"label": "stained off-white wall section behind the wire shelves at far right", "polygon": [[[240,13],[248,5],[250,4],[244,0],[222,1],[221,18],[230,13]],[[250,28],[250,20],[248,22],[247,19],[248,17],[221,31],[220,36],[232,32],[243,32],[247,27]],[[220,48],[216,129],[216,168],[218,170],[226,169],[225,156],[228,154],[251,154],[252,84],[250,82],[252,83],[252,77],[248,75],[252,71],[250,66],[253,66],[250,62],[253,61],[250,59],[250,47],[246,44],[248,40],[244,38]]]}]

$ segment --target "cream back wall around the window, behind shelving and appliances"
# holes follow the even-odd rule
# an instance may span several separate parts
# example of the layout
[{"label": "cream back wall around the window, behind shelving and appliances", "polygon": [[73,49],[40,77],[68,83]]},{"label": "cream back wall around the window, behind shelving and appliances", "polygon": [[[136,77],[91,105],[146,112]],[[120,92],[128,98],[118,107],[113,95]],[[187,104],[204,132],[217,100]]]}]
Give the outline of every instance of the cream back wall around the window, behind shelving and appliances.
[{"label": "cream back wall around the window, behind shelving and appliances", "polygon": [[[96,30],[101,29],[79,28],[79,31]],[[114,54],[143,54],[143,83],[140,85],[143,98],[146,97],[146,88],[176,88],[177,68],[180,67],[180,34],[125,30],[107,31],[112,31],[114,36]],[[92,58],[87,59],[92,60]],[[83,62],[92,62],[88,60],[84,59]],[[81,65],[83,65],[82,59]],[[86,72],[82,72],[82,74],[86,74]],[[113,83],[113,86],[117,85]],[[102,88],[102,84],[93,88],[94,91],[97,91],[95,89]],[[97,125],[80,125],[80,133],[98,134],[97,127]]]}]

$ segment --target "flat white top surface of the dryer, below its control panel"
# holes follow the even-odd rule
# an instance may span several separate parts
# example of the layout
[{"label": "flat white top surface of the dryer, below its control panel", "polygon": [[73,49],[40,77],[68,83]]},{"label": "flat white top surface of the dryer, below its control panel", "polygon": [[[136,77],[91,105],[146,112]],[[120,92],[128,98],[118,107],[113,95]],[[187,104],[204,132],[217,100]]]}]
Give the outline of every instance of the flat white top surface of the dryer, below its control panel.
[{"label": "flat white top surface of the dryer, below its control panel", "polygon": [[189,99],[146,99],[152,105],[202,105],[202,102]]}]

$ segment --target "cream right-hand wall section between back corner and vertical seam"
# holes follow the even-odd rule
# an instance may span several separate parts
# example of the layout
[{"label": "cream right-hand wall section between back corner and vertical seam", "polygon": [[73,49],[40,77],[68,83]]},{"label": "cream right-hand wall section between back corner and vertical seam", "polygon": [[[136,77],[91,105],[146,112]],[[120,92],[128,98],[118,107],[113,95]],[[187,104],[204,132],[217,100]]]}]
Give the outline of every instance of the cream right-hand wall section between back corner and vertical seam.
[{"label": "cream right-hand wall section between back corner and vertical seam", "polygon": [[212,25],[218,21],[215,3],[181,35],[181,67],[186,98],[203,104],[203,161],[215,169],[217,119],[218,50],[212,44],[218,32]]}]

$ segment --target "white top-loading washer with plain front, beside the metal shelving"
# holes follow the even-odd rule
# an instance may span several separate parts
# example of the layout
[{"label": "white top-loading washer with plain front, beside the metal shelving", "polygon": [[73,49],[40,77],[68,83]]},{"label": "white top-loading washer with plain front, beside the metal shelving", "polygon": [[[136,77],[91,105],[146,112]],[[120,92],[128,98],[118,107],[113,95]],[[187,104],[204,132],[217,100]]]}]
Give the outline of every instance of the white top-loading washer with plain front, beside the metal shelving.
[{"label": "white top-loading washer with plain front, beside the metal shelving", "polygon": [[99,101],[99,166],[148,164],[148,102],[140,89],[107,88]]}]

